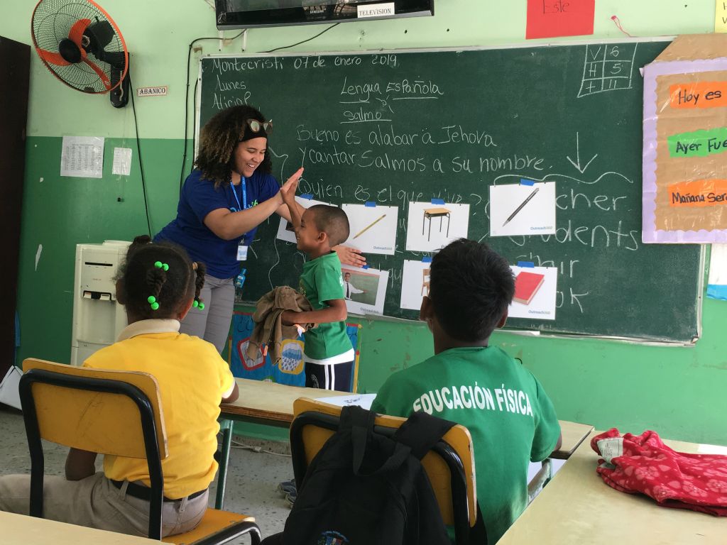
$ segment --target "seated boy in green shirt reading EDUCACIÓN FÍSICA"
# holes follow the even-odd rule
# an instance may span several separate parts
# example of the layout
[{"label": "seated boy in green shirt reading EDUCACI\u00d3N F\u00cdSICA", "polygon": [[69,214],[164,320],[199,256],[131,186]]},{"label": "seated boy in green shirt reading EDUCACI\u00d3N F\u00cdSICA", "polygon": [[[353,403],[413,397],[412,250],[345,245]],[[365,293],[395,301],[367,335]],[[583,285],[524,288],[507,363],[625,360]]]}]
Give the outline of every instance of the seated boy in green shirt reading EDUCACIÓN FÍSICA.
[{"label": "seated boy in green shirt reading EDUCACI\u00d3N F\u00cdSICA", "polygon": [[477,498],[493,545],[527,505],[530,461],[561,445],[561,427],[537,379],[489,336],[505,325],[515,282],[507,261],[464,238],[438,252],[419,319],[434,356],[390,376],[371,409],[393,416],[425,411],[470,430]]}]

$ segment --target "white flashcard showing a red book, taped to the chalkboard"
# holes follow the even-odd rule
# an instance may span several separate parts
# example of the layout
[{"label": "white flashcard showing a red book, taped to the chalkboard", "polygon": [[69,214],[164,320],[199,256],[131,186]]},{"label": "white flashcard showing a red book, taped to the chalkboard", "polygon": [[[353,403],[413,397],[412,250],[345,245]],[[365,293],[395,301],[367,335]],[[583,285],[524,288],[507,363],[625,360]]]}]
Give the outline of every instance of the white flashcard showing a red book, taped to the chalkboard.
[{"label": "white flashcard showing a red book, taped to the chalkboard", "polygon": [[510,318],[555,320],[558,267],[511,265],[515,275],[515,296],[507,315]]}]

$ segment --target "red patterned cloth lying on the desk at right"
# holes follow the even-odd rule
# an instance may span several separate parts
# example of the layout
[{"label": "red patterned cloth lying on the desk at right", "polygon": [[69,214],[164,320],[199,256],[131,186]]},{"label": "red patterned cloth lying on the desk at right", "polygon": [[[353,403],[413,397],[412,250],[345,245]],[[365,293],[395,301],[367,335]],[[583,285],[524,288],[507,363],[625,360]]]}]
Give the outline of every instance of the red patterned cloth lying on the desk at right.
[{"label": "red patterned cloth lying on the desk at right", "polygon": [[727,517],[727,456],[676,452],[656,432],[622,437],[616,428],[593,437],[591,448],[603,456],[596,471],[611,488]]}]

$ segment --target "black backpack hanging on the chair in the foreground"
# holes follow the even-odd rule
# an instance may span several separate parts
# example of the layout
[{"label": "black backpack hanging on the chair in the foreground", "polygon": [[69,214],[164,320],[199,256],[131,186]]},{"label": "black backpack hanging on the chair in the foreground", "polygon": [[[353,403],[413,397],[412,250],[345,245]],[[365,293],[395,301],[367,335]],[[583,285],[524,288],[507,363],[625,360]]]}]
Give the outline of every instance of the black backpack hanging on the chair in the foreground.
[{"label": "black backpack hanging on the chair in the foreground", "polygon": [[454,422],[414,413],[387,437],[375,418],[342,409],[299,486],[285,545],[451,544],[420,460]]}]

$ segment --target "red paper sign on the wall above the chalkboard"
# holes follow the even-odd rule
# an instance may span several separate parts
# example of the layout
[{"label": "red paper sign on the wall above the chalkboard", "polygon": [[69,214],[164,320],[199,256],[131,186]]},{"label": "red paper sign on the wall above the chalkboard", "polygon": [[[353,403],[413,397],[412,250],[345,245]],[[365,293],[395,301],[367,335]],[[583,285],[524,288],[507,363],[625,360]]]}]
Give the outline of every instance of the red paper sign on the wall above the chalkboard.
[{"label": "red paper sign on the wall above the chalkboard", "polygon": [[595,0],[528,0],[526,39],[593,34]]}]

